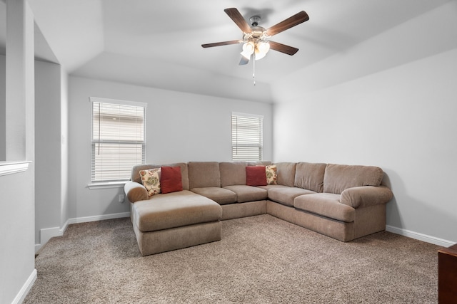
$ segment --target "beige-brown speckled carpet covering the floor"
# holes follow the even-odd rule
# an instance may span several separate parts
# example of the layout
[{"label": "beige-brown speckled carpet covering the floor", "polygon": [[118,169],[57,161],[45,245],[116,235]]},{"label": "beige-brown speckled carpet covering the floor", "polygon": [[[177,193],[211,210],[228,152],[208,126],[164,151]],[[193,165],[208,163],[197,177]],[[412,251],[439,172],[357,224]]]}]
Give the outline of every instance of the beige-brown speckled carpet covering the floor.
[{"label": "beige-brown speckled carpet covering the floor", "polygon": [[142,257],[129,219],[69,226],[24,303],[436,303],[438,246],[381,232],[342,243],[273,216]]}]

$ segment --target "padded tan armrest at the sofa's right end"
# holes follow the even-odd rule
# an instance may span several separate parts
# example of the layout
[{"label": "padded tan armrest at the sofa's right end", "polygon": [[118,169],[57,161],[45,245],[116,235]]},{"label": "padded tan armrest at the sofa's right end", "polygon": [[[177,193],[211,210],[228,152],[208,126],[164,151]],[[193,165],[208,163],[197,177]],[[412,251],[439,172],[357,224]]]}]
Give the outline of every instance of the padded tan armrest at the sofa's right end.
[{"label": "padded tan armrest at the sofa's right end", "polygon": [[340,202],[353,208],[386,204],[393,197],[391,189],[385,186],[352,187],[341,192]]}]

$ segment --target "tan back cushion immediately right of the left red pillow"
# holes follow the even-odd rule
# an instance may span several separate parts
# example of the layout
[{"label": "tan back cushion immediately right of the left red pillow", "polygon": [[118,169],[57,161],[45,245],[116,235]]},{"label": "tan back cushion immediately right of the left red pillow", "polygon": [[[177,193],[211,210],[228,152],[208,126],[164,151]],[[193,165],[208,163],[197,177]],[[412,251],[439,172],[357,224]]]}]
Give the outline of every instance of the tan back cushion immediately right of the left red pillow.
[{"label": "tan back cushion immediately right of the left red pillow", "polygon": [[189,162],[189,187],[221,187],[219,162]]}]

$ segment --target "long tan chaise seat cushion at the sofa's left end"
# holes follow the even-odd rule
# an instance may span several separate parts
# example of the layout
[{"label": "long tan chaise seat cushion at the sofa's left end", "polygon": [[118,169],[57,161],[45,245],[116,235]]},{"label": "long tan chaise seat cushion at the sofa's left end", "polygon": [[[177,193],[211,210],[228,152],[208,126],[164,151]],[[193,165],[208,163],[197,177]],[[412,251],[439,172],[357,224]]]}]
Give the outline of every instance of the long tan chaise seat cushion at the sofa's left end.
[{"label": "long tan chaise seat cushion at the sofa's left end", "polygon": [[184,190],[156,194],[133,204],[136,225],[143,232],[219,221],[222,208],[207,197]]}]

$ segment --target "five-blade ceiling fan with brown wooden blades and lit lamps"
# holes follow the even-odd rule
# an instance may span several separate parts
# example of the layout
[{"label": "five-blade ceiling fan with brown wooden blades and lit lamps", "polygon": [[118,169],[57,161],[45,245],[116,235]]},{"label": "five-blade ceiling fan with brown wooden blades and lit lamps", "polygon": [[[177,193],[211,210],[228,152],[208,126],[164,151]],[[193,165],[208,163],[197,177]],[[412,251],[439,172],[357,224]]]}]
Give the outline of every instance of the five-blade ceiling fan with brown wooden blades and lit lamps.
[{"label": "five-blade ceiling fan with brown wooden blades and lit lamps", "polygon": [[281,33],[282,31],[286,31],[288,28],[292,28],[300,23],[309,20],[308,14],[305,11],[300,11],[299,13],[285,19],[271,28],[263,28],[258,26],[258,21],[260,21],[260,16],[252,16],[249,21],[251,21],[251,26],[246,22],[243,16],[240,14],[238,9],[231,8],[231,9],[224,9],[227,15],[236,23],[238,28],[243,31],[243,38],[240,40],[231,40],[231,41],[223,41],[223,42],[216,42],[216,43],[206,43],[202,44],[201,46],[204,48],[211,48],[214,46],[226,46],[229,44],[237,44],[237,43],[244,43],[243,44],[243,51],[241,52],[241,61],[240,65],[246,64],[251,59],[251,56],[255,60],[263,58],[266,53],[270,50],[270,48],[274,51],[278,51],[281,53],[285,53],[288,55],[293,55],[298,52],[298,48],[294,48],[292,46],[286,46],[285,44],[278,43],[275,41],[269,40],[271,36],[276,35],[277,33]]}]

